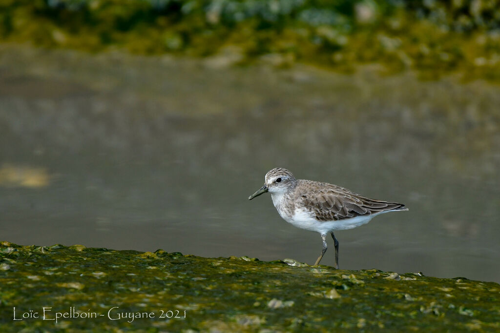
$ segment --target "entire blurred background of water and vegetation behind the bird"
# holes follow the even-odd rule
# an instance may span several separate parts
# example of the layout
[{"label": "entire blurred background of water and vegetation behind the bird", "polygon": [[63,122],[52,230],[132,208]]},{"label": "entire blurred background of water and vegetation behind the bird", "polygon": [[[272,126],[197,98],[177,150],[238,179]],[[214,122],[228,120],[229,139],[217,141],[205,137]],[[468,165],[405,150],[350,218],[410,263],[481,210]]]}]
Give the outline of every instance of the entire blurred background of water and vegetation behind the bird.
[{"label": "entire blurred background of water and vegetation behind the bird", "polygon": [[0,238],[313,264],[247,200],[284,167],[409,208],[336,232],[341,269],[500,282],[498,8],[2,1]]}]

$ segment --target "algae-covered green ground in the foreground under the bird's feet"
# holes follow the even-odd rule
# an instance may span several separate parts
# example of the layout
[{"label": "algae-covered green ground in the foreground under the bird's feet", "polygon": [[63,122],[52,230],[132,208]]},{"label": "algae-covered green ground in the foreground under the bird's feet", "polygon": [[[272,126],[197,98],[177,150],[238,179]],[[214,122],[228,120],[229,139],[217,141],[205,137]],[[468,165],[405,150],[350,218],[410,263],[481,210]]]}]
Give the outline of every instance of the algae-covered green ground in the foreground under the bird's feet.
[{"label": "algae-covered green ground in the foreground under the bird's feet", "polygon": [[0,261],[2,332],[500,330],[500,285],[465,278],[8,242]]}]

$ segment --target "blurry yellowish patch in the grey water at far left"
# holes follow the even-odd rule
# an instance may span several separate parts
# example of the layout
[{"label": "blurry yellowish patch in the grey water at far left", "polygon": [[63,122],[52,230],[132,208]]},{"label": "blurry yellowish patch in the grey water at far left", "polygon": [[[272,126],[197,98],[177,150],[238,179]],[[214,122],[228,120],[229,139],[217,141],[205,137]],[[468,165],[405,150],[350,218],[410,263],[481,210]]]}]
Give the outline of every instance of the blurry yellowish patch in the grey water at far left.
[{"label": "blurry yellowish patch in the grey water at far left", "polygon": [[31,168],[4,164],[0,167],[0,186],[7,187],[44,187],[48,185],[49,175],[43,168]]}]

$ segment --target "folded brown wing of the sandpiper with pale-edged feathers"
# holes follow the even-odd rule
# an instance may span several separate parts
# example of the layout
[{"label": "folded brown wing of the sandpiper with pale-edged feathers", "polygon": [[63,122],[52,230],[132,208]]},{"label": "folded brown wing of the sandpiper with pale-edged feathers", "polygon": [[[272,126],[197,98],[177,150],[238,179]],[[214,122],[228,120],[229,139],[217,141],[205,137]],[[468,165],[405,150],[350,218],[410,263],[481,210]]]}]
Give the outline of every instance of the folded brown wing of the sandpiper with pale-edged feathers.
[{"label": "folded brown wing of the sandpiper with pale-edged feathers", "polygon": [[403,204],[365,198],[328,183],[300,180],[296,190],[303,206],[312,211],[318,221],[344,220],[394,209],[407,210]]}]

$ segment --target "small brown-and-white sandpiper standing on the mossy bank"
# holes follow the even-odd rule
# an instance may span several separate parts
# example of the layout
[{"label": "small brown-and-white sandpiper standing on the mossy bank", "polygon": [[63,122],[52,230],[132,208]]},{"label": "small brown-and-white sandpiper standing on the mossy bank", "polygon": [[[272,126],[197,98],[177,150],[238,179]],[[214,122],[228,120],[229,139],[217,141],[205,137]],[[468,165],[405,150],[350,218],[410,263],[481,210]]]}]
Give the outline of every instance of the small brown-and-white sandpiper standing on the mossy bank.
[{"label": "small brown-and-white sandpiper standing on the mossy bank", "polygon": [[338,185],[295,179],[284,168],[269,170],[265,174],[264,185],[250,195],[248,200],[266,192],[271,194],[272,203],[283,220],[321,235],[321,254],[314,266],[319,265],[328,248],[326,235],[331,235],[336,269],[338,241],[333,231],[359,227],[379,214],[408,210],[404,204],[369,199]]}]

